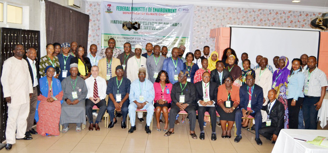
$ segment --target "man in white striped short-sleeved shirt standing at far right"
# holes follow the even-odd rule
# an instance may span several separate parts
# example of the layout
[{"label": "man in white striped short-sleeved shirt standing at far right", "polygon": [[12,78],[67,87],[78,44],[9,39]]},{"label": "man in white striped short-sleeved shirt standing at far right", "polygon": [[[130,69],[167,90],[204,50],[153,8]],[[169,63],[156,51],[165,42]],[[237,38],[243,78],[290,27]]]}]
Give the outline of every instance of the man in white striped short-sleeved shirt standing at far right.
[{"label": "man in white striped short-sleeved shirt standing at far right", "polygon": [[325,73],[316,67],[317,58],[310,56],[307,59],[308,70],[304,72],[304,101],[303,117],[305,129],[317,129],[318,110],[326,93],[327,78]]}]

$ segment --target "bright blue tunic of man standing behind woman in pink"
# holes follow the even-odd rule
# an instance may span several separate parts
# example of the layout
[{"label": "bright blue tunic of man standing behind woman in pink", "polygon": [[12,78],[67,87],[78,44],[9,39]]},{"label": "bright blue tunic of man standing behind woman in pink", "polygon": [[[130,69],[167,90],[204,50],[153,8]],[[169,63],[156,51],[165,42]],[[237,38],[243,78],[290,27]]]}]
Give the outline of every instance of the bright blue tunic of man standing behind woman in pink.
[{"label": "bright blue tunic of man standing behind woman in pink", "polygon": [[168,57],[164,60],[163,63],[163,70],[166,71],[169,75],[169,80],[172,84],[178,82],[178,80],[174,80],[174,74],[178,75],[181,70],[183,70],[183,61],[180,58],[177,58],[177,65],[176,65],[176,71],[174,63],[176,60],[174,60],[174,63],[172,61],[172,57]]}]

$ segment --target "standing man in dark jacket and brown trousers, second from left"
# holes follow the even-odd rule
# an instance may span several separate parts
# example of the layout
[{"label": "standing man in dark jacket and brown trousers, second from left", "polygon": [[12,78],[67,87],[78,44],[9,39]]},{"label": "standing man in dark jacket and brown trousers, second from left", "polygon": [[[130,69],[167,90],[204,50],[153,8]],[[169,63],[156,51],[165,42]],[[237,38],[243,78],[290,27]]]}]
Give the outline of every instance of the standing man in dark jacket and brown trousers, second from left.
[{"label": "standing man in dark jacket and brown trousers, second from left", "polygon": [[34,125],[34,116],[35,116],[35,109],[36,109],[36,103],[38,100],[38,96],[40,95],[40,75],[39,75],[39,64],[36,63],[36,50],[34,48],[30,48],[27,50],[26,53],[27,58],[25,59],[27,61],[27,64],[29,65],[29,71],[32,79],[32,85],[33,85],[33,94],[32,98],[30,99],[30,114],[27,118],[27,128],[25,132],[25,136],[31,137],[31,134],[38,134],[32,126]]}]

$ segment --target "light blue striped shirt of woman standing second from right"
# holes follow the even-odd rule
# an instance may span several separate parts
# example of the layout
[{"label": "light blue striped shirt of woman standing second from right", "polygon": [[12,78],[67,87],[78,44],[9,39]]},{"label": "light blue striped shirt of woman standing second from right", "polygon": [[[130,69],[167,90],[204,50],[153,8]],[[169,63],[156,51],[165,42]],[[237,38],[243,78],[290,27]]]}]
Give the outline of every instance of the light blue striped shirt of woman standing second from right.
[{"label": "light blue striped shirt of woman standing second from right", "polygon": [[288,95],[287,99],[293,98],[295,100],[298,97],[304,98],[303,86],[304,86],[305,75],[302,72],[299,72],[299,69],[294,71],[292,75],[288,78]]}]

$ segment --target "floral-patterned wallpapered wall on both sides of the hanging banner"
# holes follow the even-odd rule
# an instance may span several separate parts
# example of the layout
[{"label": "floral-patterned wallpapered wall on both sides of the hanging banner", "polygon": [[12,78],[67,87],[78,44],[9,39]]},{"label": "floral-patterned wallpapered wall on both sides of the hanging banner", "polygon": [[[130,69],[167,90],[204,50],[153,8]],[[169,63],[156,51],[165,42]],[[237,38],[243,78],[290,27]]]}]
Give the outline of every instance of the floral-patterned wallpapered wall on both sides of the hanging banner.
[{"label": "floral-patterned wallpapered wall on both sides of the hanging banner", "polygon": [[[88,46],[100,46],[100,4],[87,2],[86,13],[90,15]],[[283,11],[268,9],[227,8],[194,6],[193,50],[210,46],[214,51],[215,39],[210,38],[210,30],[232,25],[273,26],[310,28],[310,20],[321,15],[318,12]]]}]

